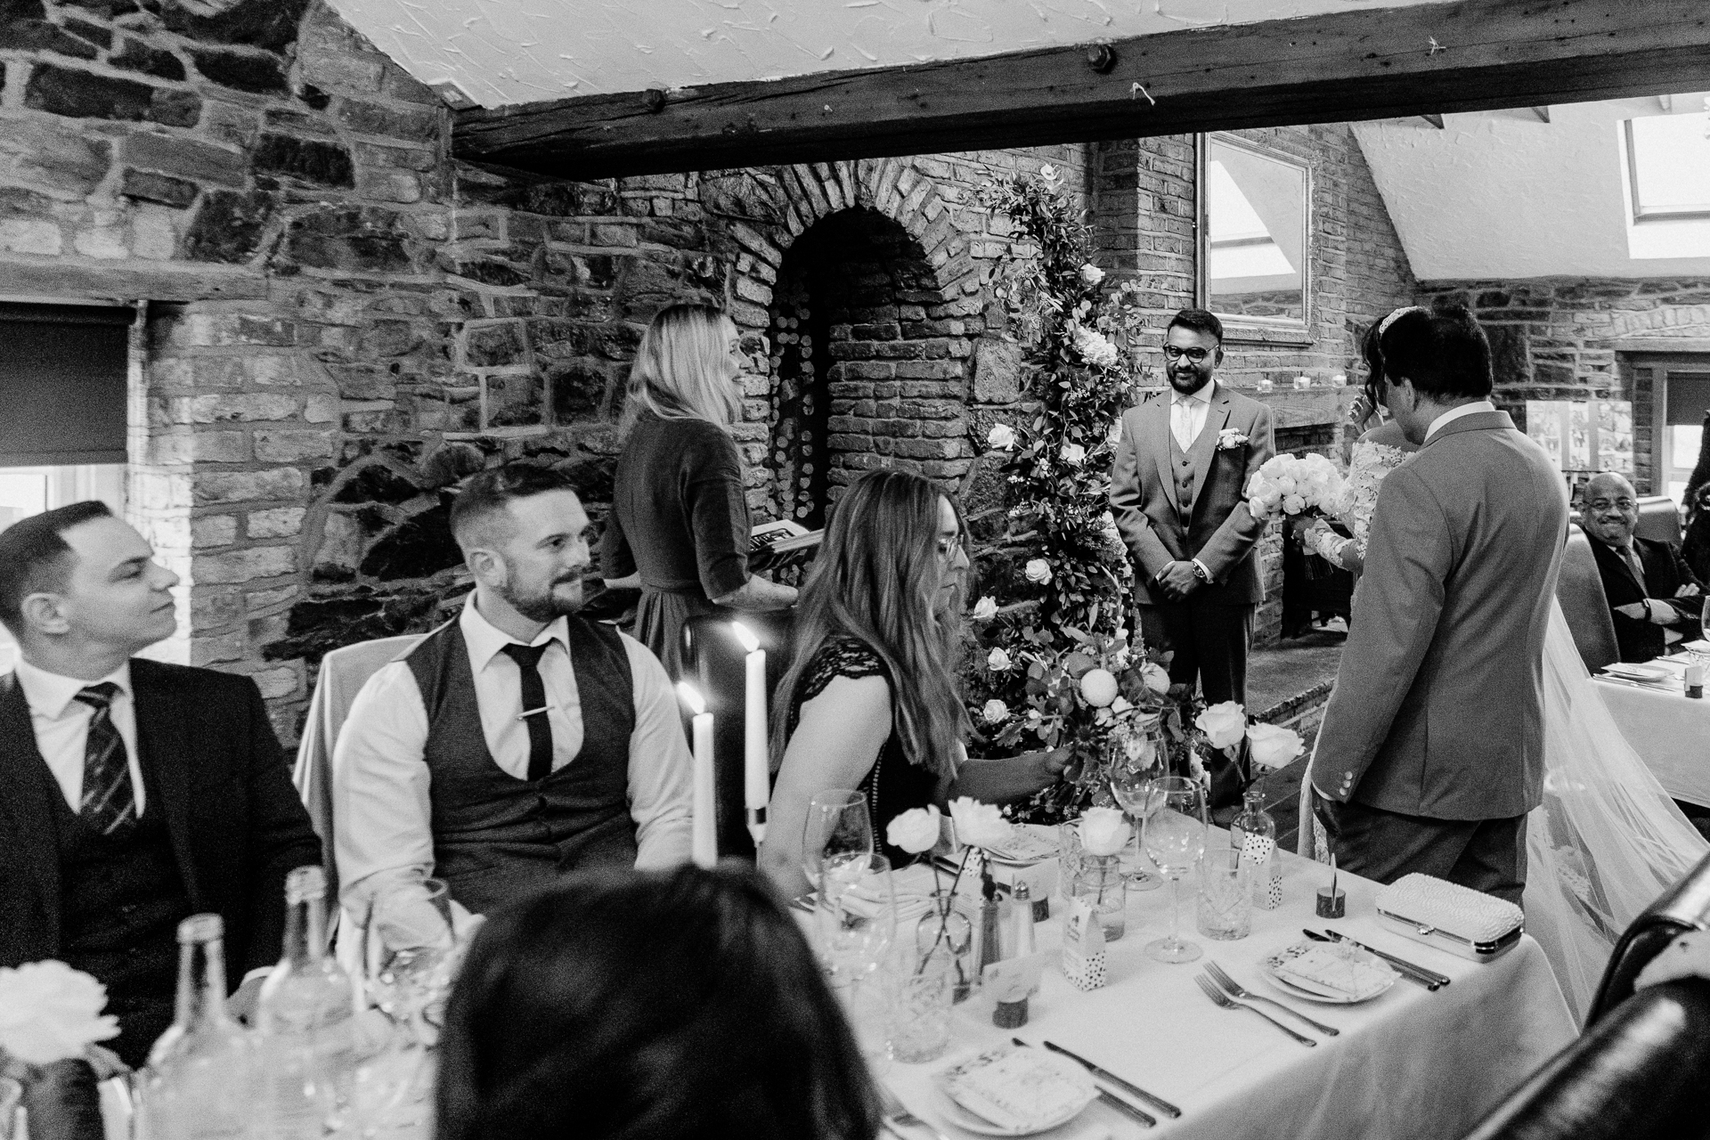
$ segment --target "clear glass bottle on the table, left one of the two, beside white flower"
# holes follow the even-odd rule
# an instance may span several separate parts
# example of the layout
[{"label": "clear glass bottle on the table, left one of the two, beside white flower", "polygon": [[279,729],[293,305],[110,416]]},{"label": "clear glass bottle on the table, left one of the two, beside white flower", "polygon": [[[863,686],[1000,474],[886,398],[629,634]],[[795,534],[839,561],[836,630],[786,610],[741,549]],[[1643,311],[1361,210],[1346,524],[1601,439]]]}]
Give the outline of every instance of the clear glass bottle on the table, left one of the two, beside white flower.
[{"label": "clear glass bottle on the table, left one of the two, beside white flower", "polygon": [[226,1012],[226,925],[178,923],[178,1007],[142,1072],[140,1140],[248,1140],[255,1114],[250,1034]]}]

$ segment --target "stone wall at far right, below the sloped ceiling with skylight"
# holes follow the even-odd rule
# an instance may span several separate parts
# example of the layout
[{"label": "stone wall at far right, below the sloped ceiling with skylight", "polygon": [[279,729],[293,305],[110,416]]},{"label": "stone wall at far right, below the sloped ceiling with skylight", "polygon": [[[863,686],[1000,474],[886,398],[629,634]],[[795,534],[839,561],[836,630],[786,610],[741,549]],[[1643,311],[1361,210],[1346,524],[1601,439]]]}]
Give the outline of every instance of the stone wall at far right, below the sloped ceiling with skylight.
[{"label": "stone wall at far right, below the sloped ceiling with skylight", "polygon": [[1491,340],[1496,402],[1522,429],[1527,400],[1631,400],[1633,482],[1642,494],[1662,494],[1652,467],[1655,408],[1643,361],[1674,344],[1683,350],[1710,344],[1710,280],[1426,282],[1421,303],[1433,301],[1465,304],[1479,318]]}]

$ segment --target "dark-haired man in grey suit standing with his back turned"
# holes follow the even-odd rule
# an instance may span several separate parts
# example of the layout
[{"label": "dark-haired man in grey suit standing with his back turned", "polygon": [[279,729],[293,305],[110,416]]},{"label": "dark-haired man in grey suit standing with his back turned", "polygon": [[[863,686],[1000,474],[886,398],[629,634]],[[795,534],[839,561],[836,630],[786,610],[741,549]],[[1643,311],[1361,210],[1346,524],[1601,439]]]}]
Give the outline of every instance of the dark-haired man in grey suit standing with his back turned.
[{"label": "dark-haired man in grey suit standing with his back turned", "polygon": [[1489,344],[1465,309],[1399,309],[1378,350],[1383,402],[1423,446],[1378,491],[1312,761],[1317,812],[1346,870],[1518,902],[1566,489],[1488,400]]}]

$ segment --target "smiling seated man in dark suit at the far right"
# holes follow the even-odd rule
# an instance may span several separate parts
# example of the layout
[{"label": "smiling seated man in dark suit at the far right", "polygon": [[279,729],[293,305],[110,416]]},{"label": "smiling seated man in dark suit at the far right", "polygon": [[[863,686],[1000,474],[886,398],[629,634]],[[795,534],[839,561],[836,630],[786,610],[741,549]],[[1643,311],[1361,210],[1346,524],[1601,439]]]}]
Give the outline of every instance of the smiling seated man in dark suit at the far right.
[{"label": "smiling seated man in dark suit at the far right", "polygon": [[1621,660],[1648,661],[1676,641],[1695,638],[1703,583],[1686,566],[1679,547],[1633,535],[1638,525],[1633,484],[1602,472],[1585,484],[1580,514],[1609,598]]}]

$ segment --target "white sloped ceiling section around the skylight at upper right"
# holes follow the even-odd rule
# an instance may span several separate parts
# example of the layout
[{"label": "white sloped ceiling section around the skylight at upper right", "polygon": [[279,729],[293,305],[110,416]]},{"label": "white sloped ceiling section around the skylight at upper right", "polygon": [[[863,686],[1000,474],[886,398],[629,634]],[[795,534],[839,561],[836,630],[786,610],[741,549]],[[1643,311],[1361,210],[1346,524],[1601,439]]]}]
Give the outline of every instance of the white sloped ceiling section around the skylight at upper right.
[{"label": "white sloped ceiling section around the skylight at upper right", "polygon": [[[1674,106],[1703,109],[1703,96]],[[1613,99],[1553,106],[1548,123],[1522,108],[1447,115],[1443,130],[1354,123],[1354,137],[1419,280],[1707,275],[1710,256],[1630,253],[1621,123],[1662,113]],[[1666,226],[1662,250],[1710,251],[1710,222]]]}]

